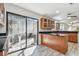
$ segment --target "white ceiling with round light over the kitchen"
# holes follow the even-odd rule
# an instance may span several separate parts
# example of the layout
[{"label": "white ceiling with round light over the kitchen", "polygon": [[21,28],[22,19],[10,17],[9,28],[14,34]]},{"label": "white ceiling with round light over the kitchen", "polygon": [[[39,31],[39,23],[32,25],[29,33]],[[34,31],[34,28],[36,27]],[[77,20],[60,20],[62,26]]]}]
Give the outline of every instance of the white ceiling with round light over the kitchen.
[{"label": "white ceiling with round light over the kitchen", "polygon": [[[15,5],[38,13],[40,15],[47,15],[56,20],[71,22],[79,19],[79,4],[78,3],[14,3]],[[67,19],[67,14],[72,16]]]}]

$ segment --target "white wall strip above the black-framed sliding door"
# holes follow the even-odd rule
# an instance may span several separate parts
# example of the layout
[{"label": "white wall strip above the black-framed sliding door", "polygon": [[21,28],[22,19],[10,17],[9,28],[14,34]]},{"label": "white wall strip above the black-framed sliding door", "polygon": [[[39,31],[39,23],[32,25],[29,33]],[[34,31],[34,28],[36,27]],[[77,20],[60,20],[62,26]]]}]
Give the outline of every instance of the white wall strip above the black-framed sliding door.
[{"label": "white wall strip above the black-framed sliding door", "polygon": [[33,17],[33,18],[37,18],[37,19],[39,19],[39,16],[40,16],[37,13],[26,10],[26,9],[16,6],[12,3],[5,3],[5,10],[8,12],[12,12],[12,13],[16,13],[16,14],[20,14],[20,15],[24,15],[24,16],[29,16],[29,17]]}]

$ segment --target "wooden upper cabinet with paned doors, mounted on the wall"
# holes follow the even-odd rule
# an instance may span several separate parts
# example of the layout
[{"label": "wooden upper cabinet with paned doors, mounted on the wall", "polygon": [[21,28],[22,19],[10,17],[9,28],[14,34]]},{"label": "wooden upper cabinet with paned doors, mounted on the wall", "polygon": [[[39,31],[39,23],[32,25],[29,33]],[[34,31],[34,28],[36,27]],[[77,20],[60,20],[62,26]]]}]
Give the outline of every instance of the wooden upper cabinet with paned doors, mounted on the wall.
[{"label": "wooden upper cabinet with paned doors, mounted on the wall", "polygon": [[50,20],[50,19],[46,19],[46,18],[41,18],[40,19],[40,28],[41,29],[46,29],[46,30],[51,30],[55,27],[55,22]]}]

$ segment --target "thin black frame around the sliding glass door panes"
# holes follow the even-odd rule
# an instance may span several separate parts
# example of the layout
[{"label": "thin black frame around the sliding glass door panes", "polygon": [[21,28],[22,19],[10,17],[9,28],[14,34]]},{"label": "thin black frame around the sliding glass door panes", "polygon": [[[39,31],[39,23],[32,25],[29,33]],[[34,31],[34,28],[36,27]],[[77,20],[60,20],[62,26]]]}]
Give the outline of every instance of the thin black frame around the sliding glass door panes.
[{"label": "thin black frame around the sliding glass door panes", "polygon": [[[25,48],[27,48],[27,18],[31,18],[31,19],[37,20],[37,45],[39,45],[39,36],[38,36],[39,35],[39,21],[38,21],[38,19],[6,11],[6,34],[7,35],[8,35],[8,14],[14,14],[14,15],[26,18],[26,47]],[[23,50],[25,48],[19,49],[17,51]],[[14,53],[14,52],[17,52],[17,51],[12,51],[11,53]]]}]

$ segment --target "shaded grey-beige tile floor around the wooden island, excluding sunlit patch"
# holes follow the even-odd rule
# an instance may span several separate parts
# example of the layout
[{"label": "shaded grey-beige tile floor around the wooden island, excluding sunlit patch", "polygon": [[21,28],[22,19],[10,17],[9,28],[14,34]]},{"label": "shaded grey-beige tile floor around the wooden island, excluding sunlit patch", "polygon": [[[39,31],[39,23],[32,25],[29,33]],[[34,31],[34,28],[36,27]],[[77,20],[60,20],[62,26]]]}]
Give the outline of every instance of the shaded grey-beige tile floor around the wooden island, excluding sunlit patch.
[{"label": "shaded grey-beige tile floor around the wooden island, excluding sunlit patch", "polygon": [[68,51],[66,54],[62,54],[46,46],[37,46],[31,56],[78,56],[78,55],[79,55],[78,43],[69,42]]}]

